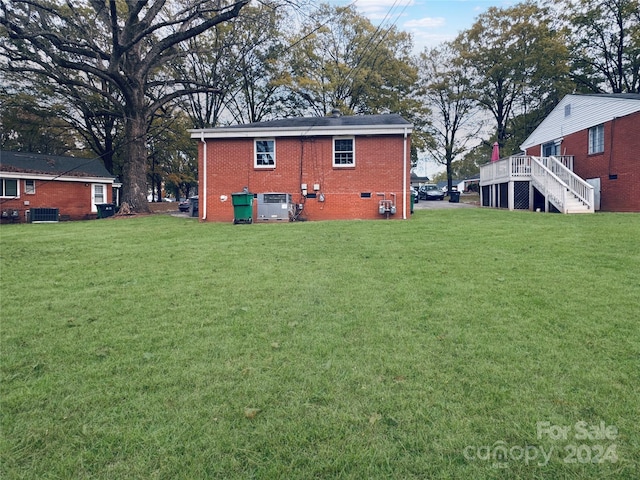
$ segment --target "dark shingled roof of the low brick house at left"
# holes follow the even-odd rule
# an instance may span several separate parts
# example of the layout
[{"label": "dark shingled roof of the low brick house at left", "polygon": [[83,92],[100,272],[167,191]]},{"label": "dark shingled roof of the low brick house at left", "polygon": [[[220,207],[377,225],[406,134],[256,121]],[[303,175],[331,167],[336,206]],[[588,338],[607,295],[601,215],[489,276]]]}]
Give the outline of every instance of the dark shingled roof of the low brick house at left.
[{"label": "dark shingled roof of the low brick house at left", "polygon": [[0,171],[66,177],[113,178],[99,158],[61,157],[0,150]]}]

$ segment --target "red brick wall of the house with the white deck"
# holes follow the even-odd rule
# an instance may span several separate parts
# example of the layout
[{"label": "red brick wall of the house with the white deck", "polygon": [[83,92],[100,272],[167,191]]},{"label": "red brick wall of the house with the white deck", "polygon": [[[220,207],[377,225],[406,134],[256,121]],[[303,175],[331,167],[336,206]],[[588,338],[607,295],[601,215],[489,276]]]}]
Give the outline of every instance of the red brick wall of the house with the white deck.
[{"label": "red brick wall of the house with the white deck", "polygon": [[[561,154],[573,155],[574,172],[600,178],[600,209],[640,212],[640,112],[604,124],[604,152],[589,155],[589,131],[566,135]],[[540,155],[541,146],[528,149]],[[613,176],[617,175],[617,178]]]}]

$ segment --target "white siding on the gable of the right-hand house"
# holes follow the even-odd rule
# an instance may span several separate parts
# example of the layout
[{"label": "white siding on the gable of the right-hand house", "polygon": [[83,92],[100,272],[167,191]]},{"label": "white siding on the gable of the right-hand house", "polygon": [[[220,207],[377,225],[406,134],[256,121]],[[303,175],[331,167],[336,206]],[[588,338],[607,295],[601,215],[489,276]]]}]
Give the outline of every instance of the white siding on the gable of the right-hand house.
[{"label": "white siding on the gable of the right-hand house", "polygon": [[[567,106],[569,107],[565,108]],[[520,148],[526,150],[552,142],[565,135],[638,111],[640,111],[640,97],[630,99],[607,95],[567,95],[520,145]],[[565,112],[569,114],[565,116]]]}]

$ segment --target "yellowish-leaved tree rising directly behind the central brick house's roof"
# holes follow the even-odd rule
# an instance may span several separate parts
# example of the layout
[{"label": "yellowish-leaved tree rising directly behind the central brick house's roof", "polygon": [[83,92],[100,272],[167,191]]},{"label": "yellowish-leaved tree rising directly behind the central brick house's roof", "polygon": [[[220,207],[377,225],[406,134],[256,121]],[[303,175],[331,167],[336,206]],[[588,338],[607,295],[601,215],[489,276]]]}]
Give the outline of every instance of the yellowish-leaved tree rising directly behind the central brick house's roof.
[{"label": "yellowish-leaved tree rising directly behind the central brick house's roof", "polygon": [[416,106],[412,42],[396,27],[376,28],[355,7],[321,5],[289,51],[289,106],[296,114],[405,113]]}]

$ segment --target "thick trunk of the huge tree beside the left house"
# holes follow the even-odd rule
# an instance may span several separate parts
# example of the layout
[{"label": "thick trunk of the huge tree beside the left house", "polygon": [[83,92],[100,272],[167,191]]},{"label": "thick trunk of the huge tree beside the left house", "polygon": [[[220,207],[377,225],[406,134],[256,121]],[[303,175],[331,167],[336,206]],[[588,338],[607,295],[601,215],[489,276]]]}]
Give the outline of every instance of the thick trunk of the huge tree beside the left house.
[{"label": "thick trunk of the huge tree beside the left house", "polygon": [[147,201],[147,121],[142,112],[125,118],[126,145],[122,168],[122,201],[137,213],[149,213]]}]

